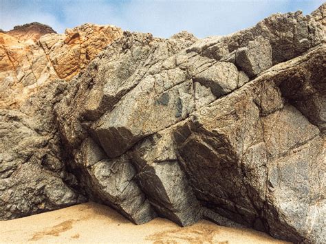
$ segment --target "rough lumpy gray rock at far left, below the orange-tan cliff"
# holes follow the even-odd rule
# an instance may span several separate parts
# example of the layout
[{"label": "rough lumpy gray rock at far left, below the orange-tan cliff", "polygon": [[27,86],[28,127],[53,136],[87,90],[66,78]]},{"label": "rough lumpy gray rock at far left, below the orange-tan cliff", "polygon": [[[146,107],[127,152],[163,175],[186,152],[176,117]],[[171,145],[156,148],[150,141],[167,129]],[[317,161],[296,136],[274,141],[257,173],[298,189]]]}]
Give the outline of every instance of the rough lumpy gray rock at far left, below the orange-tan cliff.
[{"label": "rough lumpy gray rock at far left, below the orange-tan cliff", "polygon": [[86,201],[67,171],[53,104],[65,84],[54,82],[21,111],[0,110],[0,219],[14,219]]}]

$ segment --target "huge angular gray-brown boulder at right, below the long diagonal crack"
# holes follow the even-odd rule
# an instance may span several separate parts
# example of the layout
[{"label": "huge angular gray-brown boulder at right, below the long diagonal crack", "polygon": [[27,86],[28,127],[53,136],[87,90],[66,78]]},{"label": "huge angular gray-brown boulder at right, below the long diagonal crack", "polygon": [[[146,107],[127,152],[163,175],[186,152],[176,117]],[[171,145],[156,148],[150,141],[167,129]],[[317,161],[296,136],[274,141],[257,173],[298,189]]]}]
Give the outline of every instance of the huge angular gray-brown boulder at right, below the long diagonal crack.
[{"label": "huge angular gray-brown boulder at right, below the long diagonal crack", "polygon": [[325,241],[324,131],[283,95],[290,71],[325,72],[316,65],[325,50],[276,65],[175,129],[182,168],[204,206],[289,241]]}]

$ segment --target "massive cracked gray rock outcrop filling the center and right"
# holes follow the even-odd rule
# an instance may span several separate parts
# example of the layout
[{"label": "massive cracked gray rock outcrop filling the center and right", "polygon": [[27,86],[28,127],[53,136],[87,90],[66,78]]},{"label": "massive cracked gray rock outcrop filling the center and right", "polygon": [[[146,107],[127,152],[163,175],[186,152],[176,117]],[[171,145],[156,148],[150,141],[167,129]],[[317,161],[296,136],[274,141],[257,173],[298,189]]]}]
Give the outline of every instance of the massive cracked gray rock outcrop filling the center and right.
[{"label": "massive cracked gray rock outcrop filling the center and right", "polygon": [[[323,34],[300,12],[199,41],[124,32],[55,107],[85,195],[135,223],[206,218],[325,241]],[[126,206],[131,192],[146,205]]]}]

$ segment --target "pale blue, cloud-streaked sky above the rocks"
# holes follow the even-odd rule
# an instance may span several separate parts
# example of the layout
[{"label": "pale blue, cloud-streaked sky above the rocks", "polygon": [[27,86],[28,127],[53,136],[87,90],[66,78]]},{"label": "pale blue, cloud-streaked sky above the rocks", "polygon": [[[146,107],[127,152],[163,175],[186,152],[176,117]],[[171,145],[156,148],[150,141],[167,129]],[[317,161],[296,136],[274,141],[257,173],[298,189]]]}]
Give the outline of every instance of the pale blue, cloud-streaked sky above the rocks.
[{"label": "pale blue, cloud-streaked sky above the rocks", "polygon": [[109,1],[0,0],[0,28],[38,21],[59,33],[83,23],[113,24],[122,30],[169,37],[188,30],[199,38],[250,27],[275,12],[309,14],[321,0]]}]

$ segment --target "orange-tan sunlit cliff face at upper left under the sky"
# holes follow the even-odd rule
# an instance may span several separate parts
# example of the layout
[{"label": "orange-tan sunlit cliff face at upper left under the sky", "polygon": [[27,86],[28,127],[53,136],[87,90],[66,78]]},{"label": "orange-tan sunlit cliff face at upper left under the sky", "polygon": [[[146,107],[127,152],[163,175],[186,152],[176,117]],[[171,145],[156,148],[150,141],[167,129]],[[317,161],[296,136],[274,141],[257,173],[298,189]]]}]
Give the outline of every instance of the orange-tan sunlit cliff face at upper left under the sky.
[{"label": "orange-tan sunlit cliff face at upper left under the sky", "polygon": [[19,107],[46,82],[70,80],[122,36],[113,25],[86,23],[65,34],[40,25],[23,26],[0,33],[0,108]]}]

